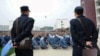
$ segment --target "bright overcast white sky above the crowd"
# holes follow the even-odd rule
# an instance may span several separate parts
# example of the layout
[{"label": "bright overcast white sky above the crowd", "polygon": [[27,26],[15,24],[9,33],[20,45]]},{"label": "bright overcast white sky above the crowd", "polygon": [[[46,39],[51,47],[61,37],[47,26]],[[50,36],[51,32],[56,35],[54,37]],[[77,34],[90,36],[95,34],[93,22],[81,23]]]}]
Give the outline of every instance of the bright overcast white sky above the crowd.
[{"label": "bright overcast white sky above the crowd", "polygon": [[73,10],[80,6],[80,0],[0,0],[0,25],[9,25],[9,21],[19,17],[22,5],[29,6],[35,26],[43,27],[54,26],[57,19],[74,18]]}]

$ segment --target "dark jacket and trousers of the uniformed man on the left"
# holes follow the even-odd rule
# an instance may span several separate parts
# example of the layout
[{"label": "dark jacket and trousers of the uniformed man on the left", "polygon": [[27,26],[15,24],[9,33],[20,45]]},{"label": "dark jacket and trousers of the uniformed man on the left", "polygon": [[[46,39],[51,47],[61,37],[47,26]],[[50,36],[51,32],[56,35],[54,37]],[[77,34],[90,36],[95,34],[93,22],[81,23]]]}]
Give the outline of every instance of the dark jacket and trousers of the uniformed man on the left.
[{"label": "dark jacket and trousers of the uniformed man on the left", "polygon": [[[33,35],[31,34],[31,31],[34,24],[34,19],[28,17],[25,14],[22,14],[18,18],[19,34],[16,33],[16,28],[17,28],[16,20],[14,21],[13,28],[11,30],[12,41],[15,41],[17,43],[23,40],[25,37],[33,37]],[[15,48],[15,53],[16,53],[16,56],[33,56],[32,49]]]}]

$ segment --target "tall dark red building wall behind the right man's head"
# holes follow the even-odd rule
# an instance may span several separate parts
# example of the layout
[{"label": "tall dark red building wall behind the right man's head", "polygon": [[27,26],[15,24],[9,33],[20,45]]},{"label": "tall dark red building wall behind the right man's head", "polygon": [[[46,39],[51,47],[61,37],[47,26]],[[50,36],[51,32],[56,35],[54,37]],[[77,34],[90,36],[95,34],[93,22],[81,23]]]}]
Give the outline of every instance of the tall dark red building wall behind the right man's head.
[{"label": "tall dark red building wall behind the right man's head", "polygon": [[96,25],[97,23],[96,23],[95,1],[81,0],[81,6],[84,7],[85,16],[91,19]]}]

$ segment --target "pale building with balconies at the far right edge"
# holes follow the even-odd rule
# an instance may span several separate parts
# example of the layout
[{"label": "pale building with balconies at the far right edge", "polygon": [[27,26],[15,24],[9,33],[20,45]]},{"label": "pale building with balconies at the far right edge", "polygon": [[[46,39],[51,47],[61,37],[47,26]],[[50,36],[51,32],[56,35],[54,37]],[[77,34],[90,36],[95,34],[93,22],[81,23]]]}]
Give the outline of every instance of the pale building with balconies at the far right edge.
[{"label": "pale building with balconies at the far right edge", "polygon": [[95,0],[97,27],[100,29],[100,0]]}]

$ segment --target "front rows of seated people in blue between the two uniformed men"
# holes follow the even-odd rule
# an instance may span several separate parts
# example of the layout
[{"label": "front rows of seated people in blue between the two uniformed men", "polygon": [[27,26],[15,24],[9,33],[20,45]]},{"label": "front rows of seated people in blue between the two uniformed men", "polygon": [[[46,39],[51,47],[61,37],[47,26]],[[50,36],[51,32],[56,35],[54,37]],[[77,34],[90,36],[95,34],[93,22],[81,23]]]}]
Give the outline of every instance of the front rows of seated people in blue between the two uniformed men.
[{"label": "front rows of seated people in blue between the two uniformed men", "polygon": [[34,49],[47,49],[50,45],[53,49],[59,47],[67,48],[71,45],[71,37],[67,34],[48,33],[48,34],[35,34],[32,39],[32,45]]}]

